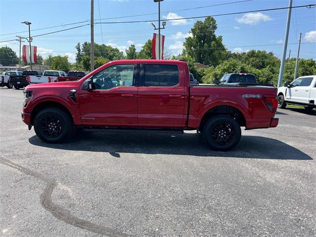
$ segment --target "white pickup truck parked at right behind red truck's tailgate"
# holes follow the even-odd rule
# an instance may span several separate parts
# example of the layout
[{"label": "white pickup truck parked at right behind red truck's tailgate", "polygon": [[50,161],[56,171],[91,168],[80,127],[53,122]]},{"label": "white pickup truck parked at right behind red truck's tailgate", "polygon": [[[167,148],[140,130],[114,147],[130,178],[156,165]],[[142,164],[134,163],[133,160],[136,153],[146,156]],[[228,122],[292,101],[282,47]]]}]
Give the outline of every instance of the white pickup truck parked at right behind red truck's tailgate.
[{"label": "white pickup truck parked at right behind red truck's tailgate", "polygon": [[307,111],[316,108],[316,76],[304,76],[292,83],[284,83],[277,89],[277,107],[284,109],[286,104],[302,105]]}]

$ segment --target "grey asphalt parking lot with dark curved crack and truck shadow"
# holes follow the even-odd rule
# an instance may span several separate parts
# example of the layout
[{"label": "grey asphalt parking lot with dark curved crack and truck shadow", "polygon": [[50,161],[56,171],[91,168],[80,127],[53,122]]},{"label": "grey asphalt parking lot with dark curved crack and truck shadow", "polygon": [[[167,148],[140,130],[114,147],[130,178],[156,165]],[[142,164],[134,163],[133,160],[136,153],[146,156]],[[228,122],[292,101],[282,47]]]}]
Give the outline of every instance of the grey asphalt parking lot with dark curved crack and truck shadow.
[{"label": "grey asphalt parking lot with dark curved crack and truck shadow", "polygon": [[316,116],[278,110],[234,151],[182,135],[45,144],[0,87],[0,236],[316,236]]}]

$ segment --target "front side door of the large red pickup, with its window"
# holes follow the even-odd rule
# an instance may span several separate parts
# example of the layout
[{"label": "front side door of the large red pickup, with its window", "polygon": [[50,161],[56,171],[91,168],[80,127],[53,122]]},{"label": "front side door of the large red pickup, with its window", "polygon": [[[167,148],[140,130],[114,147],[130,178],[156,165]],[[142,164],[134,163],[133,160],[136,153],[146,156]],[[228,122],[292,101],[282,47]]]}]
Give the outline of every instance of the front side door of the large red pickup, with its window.
[{"label": "front side door of the large red pickup, with its window", "polygon": [[93,90],[84,82],[79,93],[82,124],[137,126],[138,72],[138,64],[118,64],[93,76]]}]

